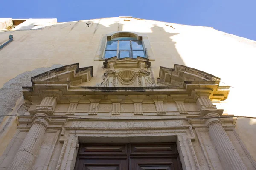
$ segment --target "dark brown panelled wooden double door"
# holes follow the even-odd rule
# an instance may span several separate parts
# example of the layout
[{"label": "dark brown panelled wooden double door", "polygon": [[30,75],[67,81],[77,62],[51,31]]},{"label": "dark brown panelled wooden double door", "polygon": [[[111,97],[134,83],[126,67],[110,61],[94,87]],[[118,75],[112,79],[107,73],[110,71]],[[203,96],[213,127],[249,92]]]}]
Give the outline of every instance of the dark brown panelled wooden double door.
[{"label": "dark brown panelled wooden double door", "polygon": [[75,170],[181,170],[175,143],[81,144]]}]

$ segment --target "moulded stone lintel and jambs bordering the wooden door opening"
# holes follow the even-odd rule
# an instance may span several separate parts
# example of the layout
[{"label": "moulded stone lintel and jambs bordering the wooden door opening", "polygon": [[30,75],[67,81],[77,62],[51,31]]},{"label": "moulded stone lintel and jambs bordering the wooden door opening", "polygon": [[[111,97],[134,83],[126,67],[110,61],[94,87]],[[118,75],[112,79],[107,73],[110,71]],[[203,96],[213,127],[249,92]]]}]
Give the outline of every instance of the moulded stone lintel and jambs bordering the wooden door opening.
[{"label": "moulded stone lintel and jambs bordering the wooden door opening", "polygon": [[[78,152],[79,138],[95,136],[136,137],[136,136],[176,136],[178,152],[182,161],[183,170],[200,170],[191,140],[195,139],[191,126],[174,127],[132,127],[132,128],[93,128],[93,127],[67,127],[60,141],[63,147],[58,161],[57,170],[73,170]],[[113,139],[114,140],[114,139]],[[114,142],[114,141],[113,141]]]}]

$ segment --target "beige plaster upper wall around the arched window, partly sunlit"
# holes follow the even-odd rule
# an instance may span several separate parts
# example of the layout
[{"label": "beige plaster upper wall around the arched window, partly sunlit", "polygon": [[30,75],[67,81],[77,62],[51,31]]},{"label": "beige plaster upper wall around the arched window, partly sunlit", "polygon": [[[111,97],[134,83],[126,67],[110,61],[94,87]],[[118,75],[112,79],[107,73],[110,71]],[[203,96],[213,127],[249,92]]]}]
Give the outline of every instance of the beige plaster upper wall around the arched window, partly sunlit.
[{"label": "beige plaster upper wall around the arched window, partly sunlit", "polygon": [[[228,114],[255,116],[253,95],[247,92],[249,85],[255,82],[255,41],[210,27],[129,20],[103,18],[47,23],[41,26],[41,30],[0,31],[2,43],[10,34],[14,37],[13,42],[0,51],[0,88],[26,71],[77,62],[80,67],[93,66],[94,77],[84,85],[94,86],[102,81],[104,73],[104,61],[94,60],[102,36],[115,31],[133,31],[148,36],[155,58],[151,61],[155,79],[160,66],[173,68],[174,64],[181,64],[205,71],[220,77],[222,85],[231,86],[229,99],[218,103],[218,108],[223,108]],[[92,24],[87,27],[84,22]],[[256,136],[252,135],[255,129],[256,121],[253,119],[238,119],[236,122],[236,131],[249,150],[256,148],[256,143],[250,142],[256,141]],[[256,150],[250,153],[256,159]]]}]

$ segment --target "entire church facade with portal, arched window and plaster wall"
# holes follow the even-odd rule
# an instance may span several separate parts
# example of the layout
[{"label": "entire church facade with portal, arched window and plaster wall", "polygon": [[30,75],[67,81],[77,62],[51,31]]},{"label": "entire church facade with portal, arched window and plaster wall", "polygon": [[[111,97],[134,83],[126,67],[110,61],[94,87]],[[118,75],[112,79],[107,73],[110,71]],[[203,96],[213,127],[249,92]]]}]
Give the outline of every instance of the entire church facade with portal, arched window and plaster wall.
[{"label": "entire church facade with portal, arched window and plaster wall", "polygon": [[256,42],[133,17],[19,22],[0,32],[2,110],[16,102],[0,170],[256,169],[256,123],[237,118],[252,115],[227,62]]}]

